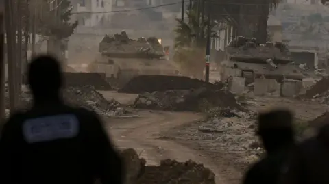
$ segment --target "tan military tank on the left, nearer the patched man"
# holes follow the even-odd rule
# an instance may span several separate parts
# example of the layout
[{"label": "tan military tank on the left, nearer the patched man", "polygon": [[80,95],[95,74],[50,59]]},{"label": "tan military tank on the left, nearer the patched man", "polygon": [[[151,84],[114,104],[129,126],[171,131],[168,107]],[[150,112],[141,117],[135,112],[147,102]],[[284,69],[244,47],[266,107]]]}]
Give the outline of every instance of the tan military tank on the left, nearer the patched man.
[{"label": "tan military tank on the left, nearer the patched man", "polygon": [[122,31],[104,36],[99,54],[88,70],[105,73],[108,82],[116,87],[123,87],[138,75],[179,75],[178,68],[164,56],[164,47],[157,38],[134,40]]}]

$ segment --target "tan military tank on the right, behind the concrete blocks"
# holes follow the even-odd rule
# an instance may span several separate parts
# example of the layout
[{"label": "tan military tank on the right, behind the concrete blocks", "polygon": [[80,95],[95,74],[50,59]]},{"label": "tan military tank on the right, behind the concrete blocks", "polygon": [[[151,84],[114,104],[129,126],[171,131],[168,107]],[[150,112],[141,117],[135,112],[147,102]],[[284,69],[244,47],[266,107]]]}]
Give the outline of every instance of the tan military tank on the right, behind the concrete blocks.
[{"label": "tan military tank on the right, behind the concrete blocks", "polygon": [[226,47],[228,60],[219,64],[221,81],[228,77],[244,77],[246,84],[256,78],[302,80],[303,75],[293,64],[287,46],[282,42],[257,44],[256,39],[238,36]]}]

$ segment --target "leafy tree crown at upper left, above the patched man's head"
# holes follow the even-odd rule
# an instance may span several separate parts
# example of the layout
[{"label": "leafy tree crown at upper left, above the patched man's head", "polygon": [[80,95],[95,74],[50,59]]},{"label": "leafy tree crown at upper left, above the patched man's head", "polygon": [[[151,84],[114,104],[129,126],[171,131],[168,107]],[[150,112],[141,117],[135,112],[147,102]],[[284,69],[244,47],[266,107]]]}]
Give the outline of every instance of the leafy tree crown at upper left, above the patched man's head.
[{"label": "leafy tree crown at upper left, above the patched man's head", "polygon": [[[71,2],[62,0],[58,7],[51,10],[47,0],[42,1],[44,1],[42,2],[42,10],[38,14],[38,34],[42,36],[56,36],[58,39],[71,36],[77,27],[77,21],[71,23]],[[58,13],[60,13],[60,20],[55,18]]]}]

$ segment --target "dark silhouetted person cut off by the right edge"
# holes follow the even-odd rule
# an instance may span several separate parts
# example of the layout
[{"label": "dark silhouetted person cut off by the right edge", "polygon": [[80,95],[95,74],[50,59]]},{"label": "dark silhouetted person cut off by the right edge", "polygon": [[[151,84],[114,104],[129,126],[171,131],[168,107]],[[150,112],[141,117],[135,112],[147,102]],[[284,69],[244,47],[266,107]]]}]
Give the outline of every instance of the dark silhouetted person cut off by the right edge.
[{"label": "dark silhouetted person cut off by the right edge", "polygon": [[328,184],[328,171],[329,124],[325,124],[315,137],[304,140],[297,146],[295,154],[291,157],[287,173],[282,176],[282,183]]}]

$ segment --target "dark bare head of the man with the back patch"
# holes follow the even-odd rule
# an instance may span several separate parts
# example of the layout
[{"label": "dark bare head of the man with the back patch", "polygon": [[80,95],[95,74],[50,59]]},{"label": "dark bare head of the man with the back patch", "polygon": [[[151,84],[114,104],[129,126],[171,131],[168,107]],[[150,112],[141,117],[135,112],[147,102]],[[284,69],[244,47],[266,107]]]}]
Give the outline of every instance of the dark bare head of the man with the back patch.
[{"label": "dark bare head of the man with the back patch", "polygon": [[39,55],[29,64],[28,83],[36,103],[59,98],[62,82],[60,62],[55,57]]}]

